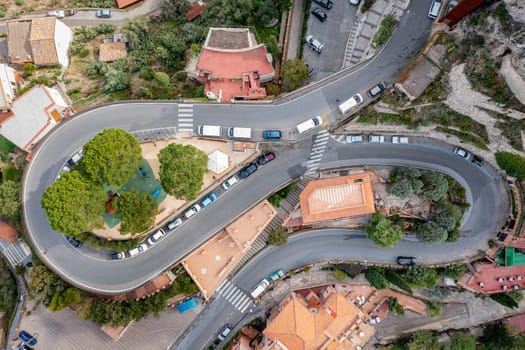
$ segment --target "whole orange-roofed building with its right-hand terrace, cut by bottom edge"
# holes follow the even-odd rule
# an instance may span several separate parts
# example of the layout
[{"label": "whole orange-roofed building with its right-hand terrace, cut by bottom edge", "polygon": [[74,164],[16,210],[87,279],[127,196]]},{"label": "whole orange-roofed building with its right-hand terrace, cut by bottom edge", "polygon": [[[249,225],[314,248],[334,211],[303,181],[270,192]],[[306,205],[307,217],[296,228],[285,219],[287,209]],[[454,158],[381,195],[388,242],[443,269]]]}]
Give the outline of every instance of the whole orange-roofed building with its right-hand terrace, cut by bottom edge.
[{"label": "whole orange-roofed building with its right-hand terrace, cut by bottom edge", "polygon": [[263,349],[356,349],[375,333],[362,320],[361,311],[332,286],[306,296],[292,292],[268,319]]}]

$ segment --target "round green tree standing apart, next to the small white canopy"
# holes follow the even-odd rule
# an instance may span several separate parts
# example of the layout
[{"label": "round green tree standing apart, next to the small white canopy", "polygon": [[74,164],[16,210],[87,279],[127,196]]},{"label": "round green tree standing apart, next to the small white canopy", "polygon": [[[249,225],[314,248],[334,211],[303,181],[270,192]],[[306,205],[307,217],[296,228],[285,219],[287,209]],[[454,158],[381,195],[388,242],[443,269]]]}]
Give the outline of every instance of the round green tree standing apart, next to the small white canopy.
[{"label": "round green tree standing apart, next to the small white canopy", "polygon": [[179,199],[195,199],[208,171],[206,153],[191,145],[171,144],[159,152],[159,161],[164,191]]}]

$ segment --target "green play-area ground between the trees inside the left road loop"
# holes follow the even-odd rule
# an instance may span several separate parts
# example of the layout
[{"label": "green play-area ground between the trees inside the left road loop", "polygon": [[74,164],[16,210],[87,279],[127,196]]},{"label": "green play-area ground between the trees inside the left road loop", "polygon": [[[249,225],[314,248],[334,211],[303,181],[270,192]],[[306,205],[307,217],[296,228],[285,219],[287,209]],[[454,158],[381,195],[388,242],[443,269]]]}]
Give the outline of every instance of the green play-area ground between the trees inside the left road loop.
[{"label": "green play-area ground between the trees inside the left road loop", "polygon": [[[142,171],[139,169],[142,169]],[[144,174],[144,176],[142,176],[143,174],[141,174],[141,172]],[[121,187],[104,185],[104,191],[106,192],[137,190],[140,193],[149,193],[153,195],[153,193],[155,193],[155,191],[159,189],[160,193],[158,193],[158,195],[154,198],[157,204],[162,203],[164,199],[166,199],[167,194],[160,186],[160,182],[157,181],[157,179],[155,179],[153,170],[151,169],[149,163],[145,159],[142,159],[142,162],[140,162],[136,171],[130,176],[128,182],[126,182]],[[107,212],[104,212],[104,221],[109,227],[114,227],[118,223],[120,223],[120,219],[118,217],[116,217],[115,215],[109,215]]]}]

